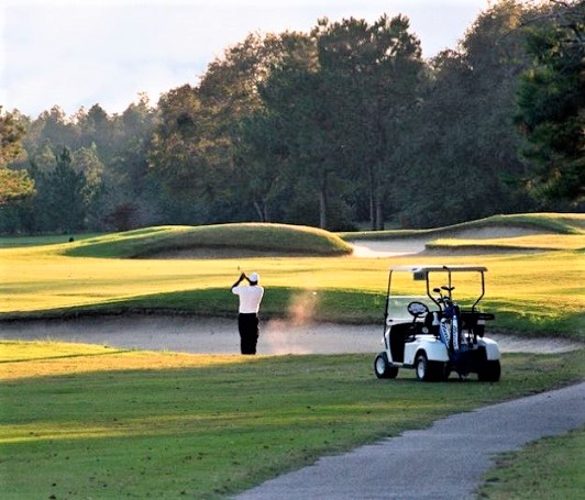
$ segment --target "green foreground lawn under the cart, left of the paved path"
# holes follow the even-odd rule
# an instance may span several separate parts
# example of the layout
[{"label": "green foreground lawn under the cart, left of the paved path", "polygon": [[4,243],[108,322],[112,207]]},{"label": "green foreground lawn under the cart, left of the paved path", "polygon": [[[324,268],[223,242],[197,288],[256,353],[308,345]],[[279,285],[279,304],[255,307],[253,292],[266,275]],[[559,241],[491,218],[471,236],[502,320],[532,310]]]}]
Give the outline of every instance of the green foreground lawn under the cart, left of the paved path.
[{"label": "green foreground lawn under the cart, left of the paved path", "polygon": [[1,344],[2,498],[223,498],[318,456],[580,380],[583,352],[506,355],[499,384],[377,380],[372,356]]}]

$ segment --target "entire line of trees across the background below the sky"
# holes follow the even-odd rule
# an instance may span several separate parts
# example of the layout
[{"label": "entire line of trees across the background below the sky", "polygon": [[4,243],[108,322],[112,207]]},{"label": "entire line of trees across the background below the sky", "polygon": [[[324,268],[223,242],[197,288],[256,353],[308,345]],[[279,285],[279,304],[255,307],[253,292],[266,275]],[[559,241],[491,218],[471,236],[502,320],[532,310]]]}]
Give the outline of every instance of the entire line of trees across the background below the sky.
[{"label": "entire line of trees across the background below the sky", "polygon": [[322,19],[250,34],[155,105],[0,108],[0,232],[582,210],[584,10],[500,0],[430,60],[402,15]]}]

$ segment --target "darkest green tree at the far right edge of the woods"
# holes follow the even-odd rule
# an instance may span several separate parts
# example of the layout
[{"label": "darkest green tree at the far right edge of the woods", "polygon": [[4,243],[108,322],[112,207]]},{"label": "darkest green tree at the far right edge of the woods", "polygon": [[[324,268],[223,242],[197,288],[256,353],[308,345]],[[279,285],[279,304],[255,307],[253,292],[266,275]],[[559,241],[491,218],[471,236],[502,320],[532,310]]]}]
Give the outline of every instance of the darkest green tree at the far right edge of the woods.
[{"label": "darkest green tree at the far right edge of the woods", "polygon": [[585,196],[585,3],[553,2],[527,22],[530,68],[518,91],[527,187],[542,202]]}]

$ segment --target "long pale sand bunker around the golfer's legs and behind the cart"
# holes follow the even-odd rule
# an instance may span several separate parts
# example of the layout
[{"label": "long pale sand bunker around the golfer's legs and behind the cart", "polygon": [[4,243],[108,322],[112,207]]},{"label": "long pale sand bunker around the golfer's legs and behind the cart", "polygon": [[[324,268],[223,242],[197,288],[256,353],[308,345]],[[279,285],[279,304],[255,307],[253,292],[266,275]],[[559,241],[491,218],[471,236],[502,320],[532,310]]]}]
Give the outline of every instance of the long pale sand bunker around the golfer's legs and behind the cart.
[{"label": "long pale sand bunker around the golfer's legs and behind the cart", "polygon": [[[258,354],[373,354],[380,347],[382,325],[264,321]],[[492,334],[503,353],[563,353],[583,344],[562,338],[525,338]],[[191,354],[239,354],[234,319],[173,315],[106,315],[70,320],[26,320],[2,323],[4,341],[60,341],[146,351]]]}]

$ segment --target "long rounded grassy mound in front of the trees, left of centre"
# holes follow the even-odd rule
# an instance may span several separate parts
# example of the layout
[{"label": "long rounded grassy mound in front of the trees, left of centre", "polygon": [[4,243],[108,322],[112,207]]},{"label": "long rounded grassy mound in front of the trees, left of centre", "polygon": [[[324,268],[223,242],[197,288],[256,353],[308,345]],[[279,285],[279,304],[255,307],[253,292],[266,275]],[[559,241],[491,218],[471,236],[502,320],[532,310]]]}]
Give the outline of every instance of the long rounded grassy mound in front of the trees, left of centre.
[{"label": "long rounded grassy mound in front of the trees, left of centre", "polygon": [[113,233],[73,243],[64,251],[76,257],[134,258],[173,252],[230,249],[262,254],[345,255],[352,248],[339,236],[316,227],[286,224],[158,226]]}]

